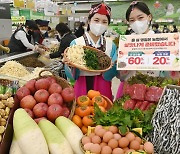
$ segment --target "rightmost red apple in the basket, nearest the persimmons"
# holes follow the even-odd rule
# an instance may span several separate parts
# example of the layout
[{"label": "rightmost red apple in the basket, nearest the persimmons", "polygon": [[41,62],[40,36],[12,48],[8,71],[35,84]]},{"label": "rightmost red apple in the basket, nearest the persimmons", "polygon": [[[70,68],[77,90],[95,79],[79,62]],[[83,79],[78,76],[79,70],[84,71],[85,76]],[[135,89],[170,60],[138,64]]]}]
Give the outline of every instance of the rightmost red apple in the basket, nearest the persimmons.
[{"label": "rightmost red apple in the basket, nearest the persimmons", "polygon": [[61,92],[61,95],[65,102],[72,102],[75,98],[74,89],[71,87],[64,88]]}]

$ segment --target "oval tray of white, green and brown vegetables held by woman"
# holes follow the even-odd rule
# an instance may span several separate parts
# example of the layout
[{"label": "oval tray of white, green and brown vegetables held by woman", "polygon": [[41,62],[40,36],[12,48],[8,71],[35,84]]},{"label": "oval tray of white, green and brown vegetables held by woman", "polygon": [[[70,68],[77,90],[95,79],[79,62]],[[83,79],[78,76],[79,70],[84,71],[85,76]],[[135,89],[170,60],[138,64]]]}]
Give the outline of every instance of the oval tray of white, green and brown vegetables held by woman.
[{"label": "oval tray of white, green and brown vegetables held by woman", "polygon": [[103,71],[111,68],[111,59],[104,52],[92,47],[74,45],[66,49],[64,61],[79,69]]}]

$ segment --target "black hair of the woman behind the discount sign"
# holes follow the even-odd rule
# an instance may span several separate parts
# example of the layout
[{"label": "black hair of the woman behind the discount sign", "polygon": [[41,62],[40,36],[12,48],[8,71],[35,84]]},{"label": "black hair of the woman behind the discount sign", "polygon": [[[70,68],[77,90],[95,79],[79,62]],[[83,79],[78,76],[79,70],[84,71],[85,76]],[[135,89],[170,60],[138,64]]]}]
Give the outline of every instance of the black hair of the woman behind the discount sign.
[{"label": "black hair of the woman behind the discount sign", "polygon": [[126,20],[127,21],[129,21],[129,16],[131,14],[131,11],[134,8],[139,9],[140,11],[142,11],[143,13],[145,13],[147,15],[151,14],[148,6],[144,2],[135,2],[134,4],[130,5],[129,8],[127,9],[127,11],[126,11]]}]

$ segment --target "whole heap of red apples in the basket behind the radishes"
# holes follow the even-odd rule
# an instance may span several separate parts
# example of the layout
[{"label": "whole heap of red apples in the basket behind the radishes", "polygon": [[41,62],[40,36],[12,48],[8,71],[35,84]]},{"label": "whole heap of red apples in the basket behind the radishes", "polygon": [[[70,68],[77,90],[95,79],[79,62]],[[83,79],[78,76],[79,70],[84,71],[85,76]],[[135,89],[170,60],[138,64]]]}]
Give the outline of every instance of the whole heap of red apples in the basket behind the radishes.
[{"label": "whole heap of red apples in the basket behind the radishes", "polygon": [[53,76],[30,80],[17,90],[20,107],[38,122],[42,118],[54,122],[59,116],[69,117],[74,89],[62,88]]}]

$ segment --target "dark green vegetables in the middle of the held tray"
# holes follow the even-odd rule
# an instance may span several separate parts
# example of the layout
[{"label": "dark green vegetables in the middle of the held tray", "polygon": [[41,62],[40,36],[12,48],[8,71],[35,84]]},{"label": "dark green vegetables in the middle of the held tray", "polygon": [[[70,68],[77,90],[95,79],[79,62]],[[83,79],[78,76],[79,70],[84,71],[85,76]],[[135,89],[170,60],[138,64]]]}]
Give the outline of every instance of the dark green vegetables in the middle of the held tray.
[{"label": "dark green vegetables in the middle of the held tray", "polygon": [[96,51],[85,49],[84,53],[85,53],[84,60],[86,61],[86,66],[89,69],[93,69],[93,70],[100,69]]}]

